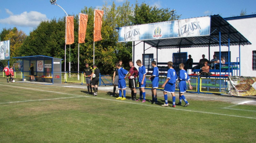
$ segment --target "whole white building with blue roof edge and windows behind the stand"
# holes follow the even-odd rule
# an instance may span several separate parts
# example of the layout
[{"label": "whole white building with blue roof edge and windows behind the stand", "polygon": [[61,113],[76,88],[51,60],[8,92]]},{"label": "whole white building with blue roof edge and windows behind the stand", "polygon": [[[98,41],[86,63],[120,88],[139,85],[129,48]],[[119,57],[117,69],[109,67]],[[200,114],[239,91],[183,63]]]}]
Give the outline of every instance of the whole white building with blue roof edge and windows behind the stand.
[{"label": "whole white building with blue roof edge and windows behind the stand", "polygon": [[[239,33],[244,36],[250,43],[249,45],[241,44],[240,46],[240,75],[241,76],[251,76],[255,77],[256,75],[256,14],[247,15],[247,16],[236,16],[225,18],[231,26],[233,26]],[[234,34],[234,33],[232,33]],[[226,35],[227,36],[227,35]],[[230,38],[231,39],[231,38]],[[133,42],[133,61],[136,62],[137,59],[142,60],[143,54],[145,54],[145,66],[151,64],[151,61],[155,60],[156,62],[166,63],[168,61],[173,61],[173,53],[178,53],[179,48],[170,48],[170,49],[156,49],[143,41],[132,40]],[[192,48],[180,48],[180,52],[187,52],[186,56],[192,55],[192,59],[195,62],[199,62],[202,58],[201,55],[205,54],[205,58],[209,61],[213,59],[213,54],[218,54],[219,49],[221,49],[221,55],[228,54],[228,44],[225,46],[218,45],[209,47],[192,47]],[[185,59],[186,60],[186,59]],[[239,45],[230,46],[230,62],[239,62]],[[161,65],[164,66],[164,65]],[[135,64],[135,67],[137,65]],[[189,74],[191,70],[189,70]],[[234,75],[239,75],[234,73]]]}]

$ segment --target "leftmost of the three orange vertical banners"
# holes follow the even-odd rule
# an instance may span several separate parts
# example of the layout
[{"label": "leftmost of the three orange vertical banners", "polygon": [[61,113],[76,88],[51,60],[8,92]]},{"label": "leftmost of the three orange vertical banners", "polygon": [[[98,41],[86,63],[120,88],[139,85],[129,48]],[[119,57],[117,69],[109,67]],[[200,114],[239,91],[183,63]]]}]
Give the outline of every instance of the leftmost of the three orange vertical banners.
[{"label": "leftmost of the three orange vertical banners", "polygon": [[66,16],[66,45],[74,42],[74,16]]}]

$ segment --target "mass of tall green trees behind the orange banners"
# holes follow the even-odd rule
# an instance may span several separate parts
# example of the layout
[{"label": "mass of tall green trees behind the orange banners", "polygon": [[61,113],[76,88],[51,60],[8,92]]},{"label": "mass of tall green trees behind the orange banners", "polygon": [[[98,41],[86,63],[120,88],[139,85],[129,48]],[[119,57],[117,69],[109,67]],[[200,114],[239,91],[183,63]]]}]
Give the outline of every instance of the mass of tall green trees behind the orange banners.
[{"label": "mass of tall green trees behind the orange banners", "polygon": [[[93,7],[84,7],[81,13],[88,14],[85,43],[79,44],[79,68],[85,68],[85,62],[93,64]],[[111,6],[103,5],[104,10],[102,23],[102,40],[95,42],[95,64],[102,74],[112,74],[114,65],[122,60],[125,68],[129,68],[128,61],[132,59],[132,42],[118,42],[118,30],[116,28],[137,24],[154,23],[178,19],[170,9],[159,9],[150,7],[144,2],[139,5],[130,5],[126,0],[123,5],[116,7],[113,2]],[[172,16],[173,15],[173,16]],[[71,71],[78,70],[78,14],[74,16],[75,42],[66,46],[67,62],[71,59]],[[21,56],[45,55],[64,59],[65,56],[65,17],[56,20],[42,21],[24,41],[20,50]],[[69,57],[69,52],[71,56]],[[64,62],[64,61],[63,61]],[[68,65],[68,64],[66,64]],[[62,66],[64,70],[64,66]]]}]

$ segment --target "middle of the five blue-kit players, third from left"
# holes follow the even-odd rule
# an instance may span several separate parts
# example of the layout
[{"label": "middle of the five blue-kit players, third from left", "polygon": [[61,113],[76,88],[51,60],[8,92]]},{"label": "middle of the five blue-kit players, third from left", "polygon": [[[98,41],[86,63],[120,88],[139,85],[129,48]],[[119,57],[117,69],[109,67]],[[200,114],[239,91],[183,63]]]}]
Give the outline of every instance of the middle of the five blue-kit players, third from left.
[{"label": "middle of the five blue-kit players, third from left", "polygon": [[152,73],[151,77],[149,77],[149,80],[151,80],[151,82],[152,82],[152,88],[151,88],[152,101],[151,101],[151,103],[152,104],[154,104],[154,103],[157,104],[158,101],[157,101],[156,89],[158,88],[158,84],[159,84],[159,70],[156,66],[156,61],[152,61],[151,65],[154,67],[153,68],[153,73]]}]

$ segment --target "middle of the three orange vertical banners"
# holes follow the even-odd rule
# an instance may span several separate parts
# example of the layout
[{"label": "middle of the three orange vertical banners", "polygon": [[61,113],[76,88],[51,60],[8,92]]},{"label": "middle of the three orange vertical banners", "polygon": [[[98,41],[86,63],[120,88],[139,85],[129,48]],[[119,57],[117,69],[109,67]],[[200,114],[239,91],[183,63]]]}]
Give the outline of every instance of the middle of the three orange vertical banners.
[{"label": "middle of the three orange vertical banners", "polygon": [[85,43],[88,15],[79,14],[79,16],[80,16],[80,19],[79,19],[78,43]]}]

